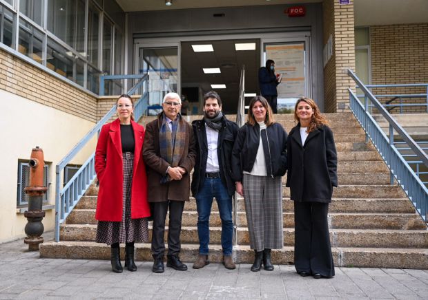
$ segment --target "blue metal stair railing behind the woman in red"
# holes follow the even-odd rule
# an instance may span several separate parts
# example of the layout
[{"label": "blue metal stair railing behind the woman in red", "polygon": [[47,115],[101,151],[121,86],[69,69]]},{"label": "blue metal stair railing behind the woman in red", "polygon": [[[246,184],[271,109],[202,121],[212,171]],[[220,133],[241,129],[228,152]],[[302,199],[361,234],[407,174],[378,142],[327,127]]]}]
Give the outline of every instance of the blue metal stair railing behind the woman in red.
[{"label": "blue metal stair railing behind the woman in red", "polygon": [[[133,95],[143,87],[142,97],[139,98],[134,108],[135,120],[139,120],[144,114],[146,114],[148,106],[148,74],[145,75],[112,75],[112,76],[101,76],[100,81],[100,92],[104,94],[104,81],[105,80],[117,80],[117,79],[139,79],[139,81],[132,87],[127,94]],[[102,86],[102,89],[101,89]],[[99,133],[101,127],[106,124],[110,118],[115,114],[116,107],[113,107],[108,113],[97,122],[93,129],[90,129],[86,136],[82,138],[71,151],[57,164],[56,167],[56,182],[55,182],[55,242],[59,242],[59,225],[64,222],[70,211],[79,202],[81,196],[84,195],[90,184],[95,180],[95,151],[92,153],[90,158],[80,167],[67,184],[61,189],[61,172],[70,163],[72,158],[76,156],[81,149],[95,136],[95,133]]]}]

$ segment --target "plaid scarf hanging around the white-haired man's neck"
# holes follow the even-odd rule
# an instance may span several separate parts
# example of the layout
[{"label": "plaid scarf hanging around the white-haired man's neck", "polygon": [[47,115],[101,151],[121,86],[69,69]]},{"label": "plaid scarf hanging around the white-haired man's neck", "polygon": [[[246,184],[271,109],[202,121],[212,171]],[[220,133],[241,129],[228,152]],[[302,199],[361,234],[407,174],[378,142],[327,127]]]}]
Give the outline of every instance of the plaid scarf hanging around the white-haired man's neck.
[{"label": "plaid scarf hanging around the white-haired man's neck", "polygon": [[[165,114],[162,114],[162,125],[159,128],[159,148],[160,156],[171,167],[177,167],[184,153],[184,144],[186,144],[186,126],[181,122],[181,116],[178,114],[173,121],[173,131],[169,129]],[[163,175],[161,183],[171,181],[168,174]]]}]

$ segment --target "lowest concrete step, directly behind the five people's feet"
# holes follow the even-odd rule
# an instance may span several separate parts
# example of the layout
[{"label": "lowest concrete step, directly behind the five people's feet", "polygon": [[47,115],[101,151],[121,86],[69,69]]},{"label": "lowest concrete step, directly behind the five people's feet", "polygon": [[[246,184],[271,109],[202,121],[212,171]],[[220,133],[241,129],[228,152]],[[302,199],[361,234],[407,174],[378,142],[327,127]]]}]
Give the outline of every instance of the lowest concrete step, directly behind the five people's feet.
[{"label": "lowest concrete step, directly behind the five people's feet", "polygon": [[[152,261],[150,244],[135,244],[137,261]],[[197,258],[197,244],[182,244],[180,259],[193,263]],[[345,248],[333,247],[333,262],[336,267],[359,268],[414,268],[428,269],[428,250],[420,248]],[[124,248],[121,248],[124,257]],[[236,246],[233,251],[235,262],[252,264],[254,251],[249,246]],[[110,246],[95,242],[48,242],[40,245],[41,258],[104,259],[110,260]],[[210,248],[210,261],[222,261],[220,245]],[[272,251],[273,264],[293,264],[293,247],[286,246]],[[191,267],[191,264],[189,267]]]}]

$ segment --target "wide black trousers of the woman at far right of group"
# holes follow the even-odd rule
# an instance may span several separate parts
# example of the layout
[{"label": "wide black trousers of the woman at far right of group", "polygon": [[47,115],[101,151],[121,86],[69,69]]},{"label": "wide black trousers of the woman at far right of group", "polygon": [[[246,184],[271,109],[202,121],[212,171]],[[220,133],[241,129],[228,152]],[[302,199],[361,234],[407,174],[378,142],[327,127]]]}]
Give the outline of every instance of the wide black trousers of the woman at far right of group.
[{"label": "wide black trousers of the woman at far right of group", "polygon": [[327,214],[329,204],[294,202],[294,266],[298,272],[334,276]]}]

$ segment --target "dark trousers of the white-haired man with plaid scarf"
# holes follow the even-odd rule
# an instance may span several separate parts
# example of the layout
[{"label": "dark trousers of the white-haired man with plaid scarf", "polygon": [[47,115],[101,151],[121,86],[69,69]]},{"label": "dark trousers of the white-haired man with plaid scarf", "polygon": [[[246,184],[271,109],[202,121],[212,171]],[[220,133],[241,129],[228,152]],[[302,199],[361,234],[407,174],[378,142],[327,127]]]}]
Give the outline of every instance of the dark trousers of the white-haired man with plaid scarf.
[{"label": "dark trousers of the white-haired man with plaid scarf", "polygon": [[152,202],[150,205],[153,215],[152,254],[165,253],[165,219],[169,208],[168,255],[178,255],[181,249],[179,235],[182,231],[184,201]]}]

